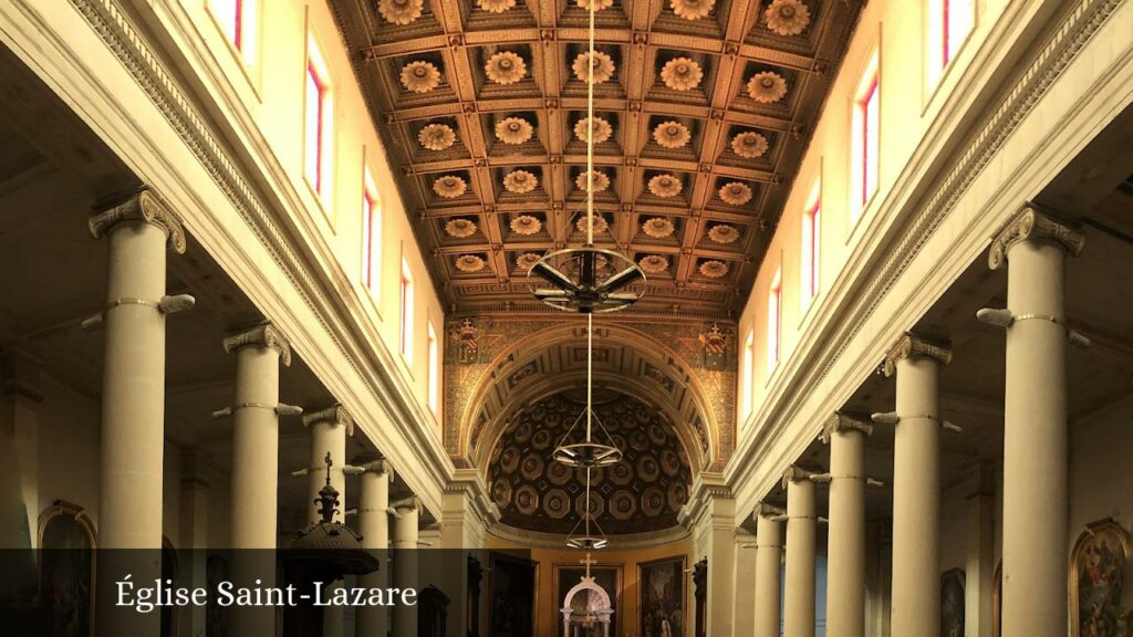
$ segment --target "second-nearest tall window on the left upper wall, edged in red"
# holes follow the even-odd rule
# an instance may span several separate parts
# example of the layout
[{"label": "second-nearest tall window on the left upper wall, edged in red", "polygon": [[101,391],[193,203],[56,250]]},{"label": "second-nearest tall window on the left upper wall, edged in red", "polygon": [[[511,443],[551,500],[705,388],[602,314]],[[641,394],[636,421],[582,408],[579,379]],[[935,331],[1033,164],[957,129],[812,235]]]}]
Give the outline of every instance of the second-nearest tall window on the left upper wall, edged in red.
[{"label": "second-nearest tall window on the left upper wall, edged in red", "polygon": [[331,185],[331,80],[314,37],[307,39],[307,87],[304,113],[304,175],[324,203]]}]

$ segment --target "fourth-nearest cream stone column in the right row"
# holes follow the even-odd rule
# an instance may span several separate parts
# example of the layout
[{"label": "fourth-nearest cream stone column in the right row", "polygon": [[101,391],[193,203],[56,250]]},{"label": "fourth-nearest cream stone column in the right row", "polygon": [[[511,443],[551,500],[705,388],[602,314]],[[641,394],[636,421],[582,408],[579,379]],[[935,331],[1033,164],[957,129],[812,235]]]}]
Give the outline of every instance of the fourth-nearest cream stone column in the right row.
[{"label": "fourth-nearest cream stone column in the right row", "polygon": [[811,472],[791,466],[786,487],[786,588],[784,637],[815,637],[815,483]]}]

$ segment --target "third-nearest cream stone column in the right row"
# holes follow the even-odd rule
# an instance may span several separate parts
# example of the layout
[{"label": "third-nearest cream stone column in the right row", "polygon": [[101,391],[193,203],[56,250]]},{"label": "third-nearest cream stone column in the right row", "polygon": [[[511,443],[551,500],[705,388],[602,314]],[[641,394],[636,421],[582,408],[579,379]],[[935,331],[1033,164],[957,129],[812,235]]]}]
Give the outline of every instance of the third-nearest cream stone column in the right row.
[{"label": "third-nearest cream stone column in the right row", "polygon": [[823,428],[830,445],[830,502],[826,579],[826,631],[866,634],[866,418],[835,414]]}]

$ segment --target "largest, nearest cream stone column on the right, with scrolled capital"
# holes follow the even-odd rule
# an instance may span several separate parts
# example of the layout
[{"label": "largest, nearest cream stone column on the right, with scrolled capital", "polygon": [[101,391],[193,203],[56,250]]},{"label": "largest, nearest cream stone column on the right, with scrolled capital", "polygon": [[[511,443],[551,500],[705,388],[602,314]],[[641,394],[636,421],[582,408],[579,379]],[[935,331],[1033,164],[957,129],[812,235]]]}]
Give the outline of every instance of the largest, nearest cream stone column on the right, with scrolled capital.
[{"label": "largest, nearest cream stone column on the right, with scrolled capital", "polygon": [[[1003,459],[1003,635],[1066,634],[1065,261],[1084,238],[1030,204],[991,244],[1008,262]],[[995,311],[991,311],[996,313]],[[981,312],[983,314],[983,312]]]}]

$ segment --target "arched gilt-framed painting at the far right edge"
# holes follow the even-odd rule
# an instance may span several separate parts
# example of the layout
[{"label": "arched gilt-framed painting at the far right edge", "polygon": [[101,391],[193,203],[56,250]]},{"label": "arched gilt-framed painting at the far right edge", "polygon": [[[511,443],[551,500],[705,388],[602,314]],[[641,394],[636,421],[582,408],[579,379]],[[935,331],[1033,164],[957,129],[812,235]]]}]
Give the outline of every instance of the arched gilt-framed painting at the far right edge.
[{"label": "arched gilt-framed painting at the far right edge", "polygon": [[1087,525],[1071,553],[1072,637],[1133,636],[1133,609],[1122,608],[1128,534],[1113,519]]}]

